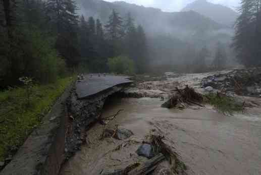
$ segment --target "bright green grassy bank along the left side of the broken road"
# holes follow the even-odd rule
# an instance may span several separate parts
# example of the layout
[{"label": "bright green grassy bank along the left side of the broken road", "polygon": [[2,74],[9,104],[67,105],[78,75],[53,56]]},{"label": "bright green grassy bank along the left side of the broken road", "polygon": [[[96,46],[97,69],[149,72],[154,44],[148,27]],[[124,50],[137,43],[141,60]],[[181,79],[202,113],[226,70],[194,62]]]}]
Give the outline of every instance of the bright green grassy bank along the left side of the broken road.
[{"label": "bright green grassy bank along the left side of the broken road", "polygon": [[53,84],[34,85],[29,106],[26,88],[0,92],[0,161],[17,151],[73,80],[68,77]]}]

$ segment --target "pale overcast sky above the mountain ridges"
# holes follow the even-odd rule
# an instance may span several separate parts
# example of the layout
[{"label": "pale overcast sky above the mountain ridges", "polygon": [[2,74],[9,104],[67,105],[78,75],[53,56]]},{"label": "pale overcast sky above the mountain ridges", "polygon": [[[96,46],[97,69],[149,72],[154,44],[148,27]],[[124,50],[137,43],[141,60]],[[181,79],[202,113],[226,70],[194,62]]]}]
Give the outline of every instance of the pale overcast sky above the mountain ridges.
[{"label": "pale overcast sky above the mountain ridges", "polygon": [[[115,0],[105,0],[105,1],[114,2]],[[159,8],[166,12],[177,12],[180,11],[183,7],[185,7],[188,3],[191,3],[195,0],[119,0],[119,1],[125,1],[127,3],[143,5],[145,7]],[[207,0],[207,1],[215,4],[222,4],[232,9],[235,9],[239,6],[240,0]]]}]

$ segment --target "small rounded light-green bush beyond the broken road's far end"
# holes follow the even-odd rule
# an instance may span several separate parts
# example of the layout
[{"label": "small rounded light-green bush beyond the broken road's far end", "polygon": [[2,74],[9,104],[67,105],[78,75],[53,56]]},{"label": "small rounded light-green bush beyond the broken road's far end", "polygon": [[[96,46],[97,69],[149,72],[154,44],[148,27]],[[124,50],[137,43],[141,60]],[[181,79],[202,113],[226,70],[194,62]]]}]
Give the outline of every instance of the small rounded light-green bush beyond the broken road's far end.
[{"label": "small rounded light-green bush beyond the broken road's far end", "polygon": [[110,58],[108,61],[108,66],[112,73],[128,75],[135,73],[134,62],[127,56],[117,56]]}]

